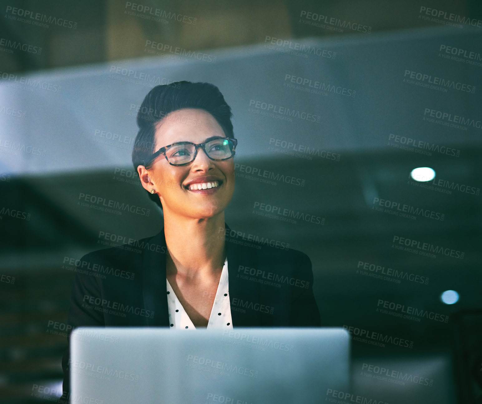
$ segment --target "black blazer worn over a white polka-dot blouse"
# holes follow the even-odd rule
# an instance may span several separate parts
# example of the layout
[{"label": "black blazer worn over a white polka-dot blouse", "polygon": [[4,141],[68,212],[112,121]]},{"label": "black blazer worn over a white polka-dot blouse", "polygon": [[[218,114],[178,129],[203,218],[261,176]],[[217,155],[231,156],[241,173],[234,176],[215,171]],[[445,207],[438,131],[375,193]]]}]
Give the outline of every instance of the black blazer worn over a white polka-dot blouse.
[{"label": "black blazer worn over a white polka-dot blouse", "polygon": [[[223,236],[233,327],[321,325],[308,255],[252,241],[228,225]],[[166,251],[162,229],[154,237],[84,255],[75,263],[68,325],[169,327]],[[63,397],[69,391],[68,357],[67,350]]]}]

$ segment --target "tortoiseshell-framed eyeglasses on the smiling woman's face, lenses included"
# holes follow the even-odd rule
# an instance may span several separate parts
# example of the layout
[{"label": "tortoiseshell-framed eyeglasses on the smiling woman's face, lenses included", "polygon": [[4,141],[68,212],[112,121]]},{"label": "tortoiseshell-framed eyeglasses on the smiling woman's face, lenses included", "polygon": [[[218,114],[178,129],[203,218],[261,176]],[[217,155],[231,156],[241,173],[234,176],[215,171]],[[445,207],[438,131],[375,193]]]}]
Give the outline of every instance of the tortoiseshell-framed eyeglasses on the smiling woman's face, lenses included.
[{"label": "tortoiseshell-framed eyeglasses on the smiling woman's face, lenses included", "polygon": [[164,157],[171,166],[185,166],[194,161],[200,147],[202,147],[204,153],[206,153],[211,160],[228,160],[228,158],[234,156],[237,144],[237,139],[218,138],[216,136],[208,138],[204,140],[203,143],[198,144],[192,142],[176,142],[161,147],[161,149],[150,156],[145,166],[151,166],[154,160],[161,154],[164,154]]}]

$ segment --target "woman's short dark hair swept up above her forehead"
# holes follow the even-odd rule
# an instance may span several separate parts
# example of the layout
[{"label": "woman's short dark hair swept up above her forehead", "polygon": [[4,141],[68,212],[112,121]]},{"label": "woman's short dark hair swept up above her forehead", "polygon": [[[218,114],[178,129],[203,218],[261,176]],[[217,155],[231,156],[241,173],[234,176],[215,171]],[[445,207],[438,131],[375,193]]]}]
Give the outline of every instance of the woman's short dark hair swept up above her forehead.
[{"label": "woman's short dark hair swept up above her forehead", "polygon": [[[219,89],[210,83],[191,83],[187,81],[156,85],[148,93],[137,113],[139,131],[132,150],[132,164],[145,165],[155,152],[156,126],[171,112],[184,108],[196,108],[213,115],[227,138],[234,138],[231,123],[231,107],[224,100]],[[162,209],[157,194],[146,191],[149,198]]]}]

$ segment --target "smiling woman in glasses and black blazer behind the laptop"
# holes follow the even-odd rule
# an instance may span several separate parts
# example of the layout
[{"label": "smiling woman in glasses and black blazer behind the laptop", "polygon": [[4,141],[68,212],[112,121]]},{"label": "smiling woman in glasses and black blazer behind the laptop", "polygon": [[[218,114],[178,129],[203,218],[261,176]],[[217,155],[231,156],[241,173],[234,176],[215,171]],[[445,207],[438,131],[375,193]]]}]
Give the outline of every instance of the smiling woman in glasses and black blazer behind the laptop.
[{"label": "smiling woman in glasses and black blazer behind the laptop", "polygon": [[[82,257],[70,326],[320,325],[308,256],[255,242],[246,247],[225,224],[235,182],[231,116],[213,84],[182,81],[149,91],[132,160],[163,209],[164,228]],[[68,352],[62,364],[67,394]]]}]

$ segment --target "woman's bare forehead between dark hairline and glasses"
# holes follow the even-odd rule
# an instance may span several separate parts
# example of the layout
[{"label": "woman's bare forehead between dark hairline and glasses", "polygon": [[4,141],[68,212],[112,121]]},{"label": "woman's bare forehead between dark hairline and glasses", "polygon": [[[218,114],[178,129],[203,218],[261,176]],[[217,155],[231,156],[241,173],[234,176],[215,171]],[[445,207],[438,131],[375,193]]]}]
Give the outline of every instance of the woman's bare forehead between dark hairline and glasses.
[{"label": "woman's bare forehead between dark hairline and glasses", "polygon": [[213,115],[197,109],[177,110],[156,125],[156,149],[183,140],[201,143],[211,136],[225,136]]}]

